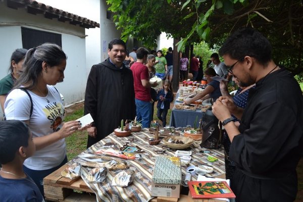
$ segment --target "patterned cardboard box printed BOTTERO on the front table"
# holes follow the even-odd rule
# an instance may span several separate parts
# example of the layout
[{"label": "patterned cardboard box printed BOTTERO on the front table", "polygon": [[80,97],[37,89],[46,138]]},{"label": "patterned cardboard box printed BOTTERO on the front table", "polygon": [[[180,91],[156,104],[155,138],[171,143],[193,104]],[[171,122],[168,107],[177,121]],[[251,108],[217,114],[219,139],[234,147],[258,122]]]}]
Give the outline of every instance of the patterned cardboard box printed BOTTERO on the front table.
[{"label": "patterned cardboard box printed BOTTERO on the front table", "polygon": [[152,196],[179,198],[181,180],[182,172],[179,157],[156,157],[151,183]]}]

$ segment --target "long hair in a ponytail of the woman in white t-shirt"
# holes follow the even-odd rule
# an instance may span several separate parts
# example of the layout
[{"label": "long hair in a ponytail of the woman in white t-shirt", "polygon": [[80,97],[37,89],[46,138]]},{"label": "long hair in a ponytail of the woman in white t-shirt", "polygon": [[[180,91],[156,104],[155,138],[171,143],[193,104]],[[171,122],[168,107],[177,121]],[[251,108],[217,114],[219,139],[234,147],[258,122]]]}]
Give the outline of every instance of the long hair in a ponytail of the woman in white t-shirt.
[{"label": "long hair in a ponytail of the woman in white t-shirt", "polygon": [[23,63],[23,73],[14,88],[23,85],[26,89],[33,89],[37,85],[43,62],[46,62],[52,68],[66,59],[67,56],[62,51],[62,48],[54,43],[43,43],[38,47],[29,49]]}]

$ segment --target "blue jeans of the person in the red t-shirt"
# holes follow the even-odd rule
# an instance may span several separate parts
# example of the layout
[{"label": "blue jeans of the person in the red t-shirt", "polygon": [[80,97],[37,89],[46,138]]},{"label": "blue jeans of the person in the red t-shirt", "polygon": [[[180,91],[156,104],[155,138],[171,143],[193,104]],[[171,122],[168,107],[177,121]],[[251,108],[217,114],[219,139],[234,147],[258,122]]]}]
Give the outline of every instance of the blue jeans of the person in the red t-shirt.
[{"label": "blue jeans of the person in the red t-shirt", "polygon": [[151,103],[135,99],[137,121],[142,121],[143,128],[149,128],[151,121]]}]

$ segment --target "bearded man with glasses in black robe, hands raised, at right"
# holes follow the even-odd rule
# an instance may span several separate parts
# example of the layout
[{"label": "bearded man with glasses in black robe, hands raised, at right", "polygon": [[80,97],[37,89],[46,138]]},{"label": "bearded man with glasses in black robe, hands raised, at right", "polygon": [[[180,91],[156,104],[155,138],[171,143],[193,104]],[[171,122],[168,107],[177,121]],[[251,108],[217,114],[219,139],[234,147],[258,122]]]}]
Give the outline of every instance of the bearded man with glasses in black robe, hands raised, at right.
[{"label": "bearded man with glasses in black robe, hands raised, at right", "polygon": [[[236,171],[231,181],[236,201],[293,201],[296,166],[303,149],[303,96],[297,81],[271,59],[270,42],[244,28],[219,51],[241,85],[256,83],[245,110],[220,97],[213,112],[231,140]],[[241,119],[237,128],[230,114]]]}]

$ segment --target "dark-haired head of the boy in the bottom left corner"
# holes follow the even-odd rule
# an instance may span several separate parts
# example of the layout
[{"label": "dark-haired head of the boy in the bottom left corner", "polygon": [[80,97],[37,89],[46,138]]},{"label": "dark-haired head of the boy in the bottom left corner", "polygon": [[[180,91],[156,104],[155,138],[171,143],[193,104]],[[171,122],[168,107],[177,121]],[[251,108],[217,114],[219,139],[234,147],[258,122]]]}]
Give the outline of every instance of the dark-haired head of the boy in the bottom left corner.
[{"label": "dark-haired head of the boy in the bottom left corner", "polygon": [[0,163],[12,162],[21,155],[25,160],[35,152],[35,144],[28,126],[18,120],[0,121]]}]

